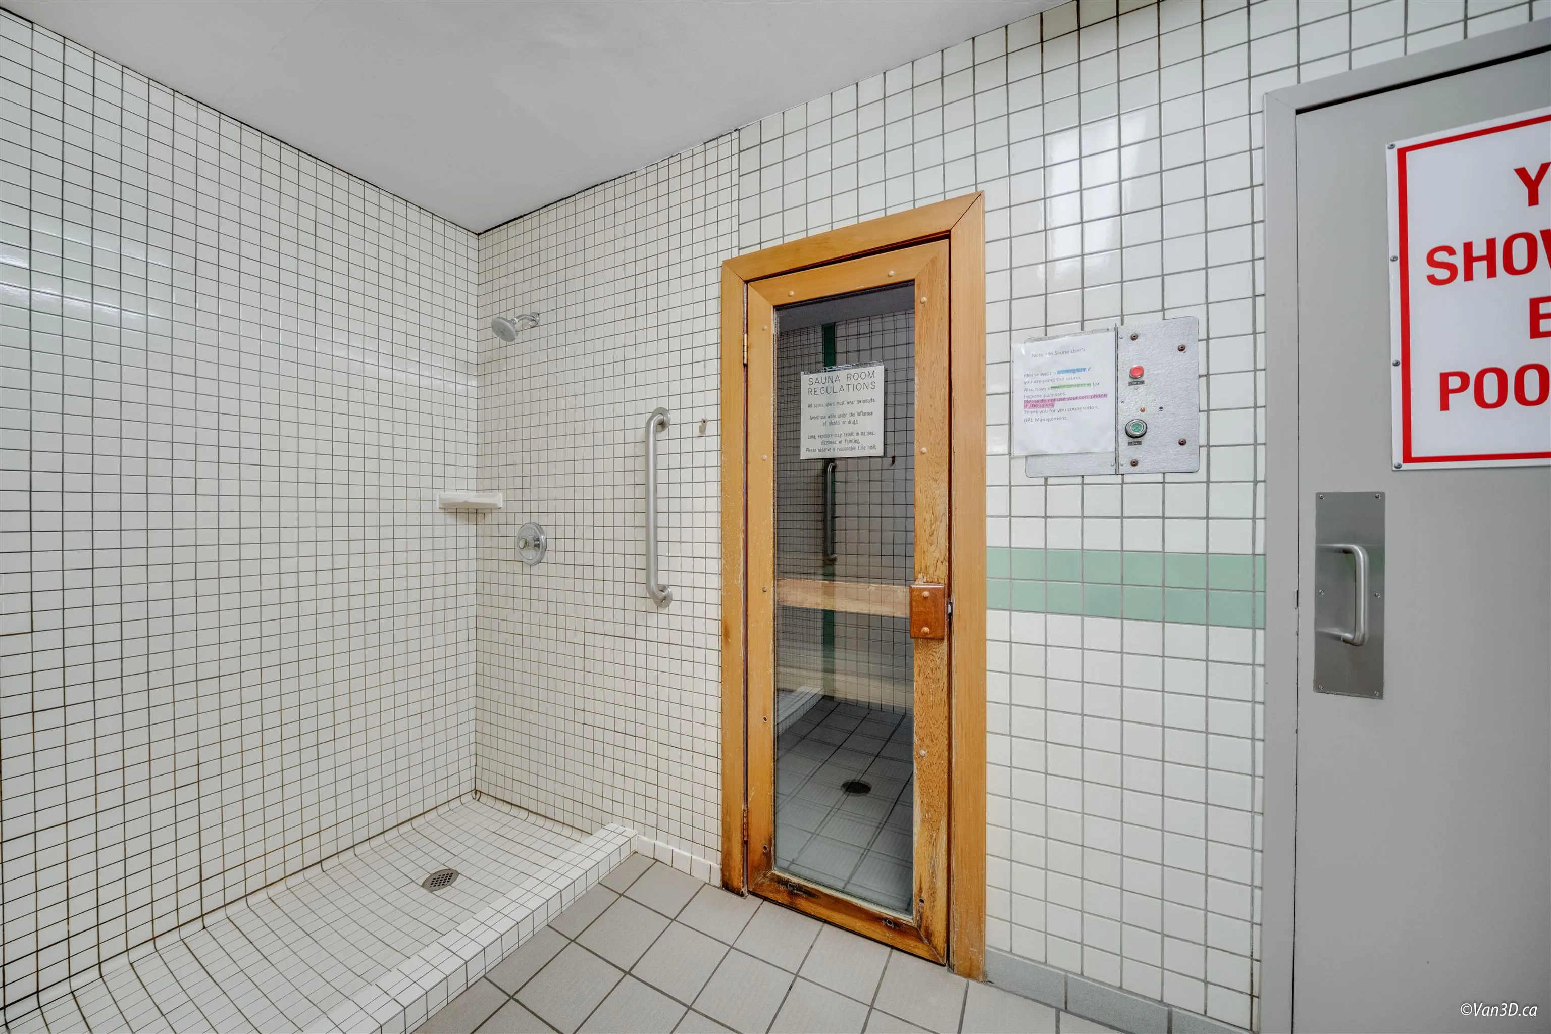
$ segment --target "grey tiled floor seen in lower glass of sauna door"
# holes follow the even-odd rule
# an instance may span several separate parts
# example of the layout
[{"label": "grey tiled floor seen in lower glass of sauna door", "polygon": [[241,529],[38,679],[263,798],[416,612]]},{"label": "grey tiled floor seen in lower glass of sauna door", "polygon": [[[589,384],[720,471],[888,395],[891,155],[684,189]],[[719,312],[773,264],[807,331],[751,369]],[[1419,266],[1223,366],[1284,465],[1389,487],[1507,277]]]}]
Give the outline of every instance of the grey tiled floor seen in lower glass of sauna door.
[{"label": "grey tiled floor seen in lower glass of sauna door", "polygon": [[[776,867],[910,912],[910,715],[820,699],[776,746]],[[862,780],[867,794],[844,784]]]}]

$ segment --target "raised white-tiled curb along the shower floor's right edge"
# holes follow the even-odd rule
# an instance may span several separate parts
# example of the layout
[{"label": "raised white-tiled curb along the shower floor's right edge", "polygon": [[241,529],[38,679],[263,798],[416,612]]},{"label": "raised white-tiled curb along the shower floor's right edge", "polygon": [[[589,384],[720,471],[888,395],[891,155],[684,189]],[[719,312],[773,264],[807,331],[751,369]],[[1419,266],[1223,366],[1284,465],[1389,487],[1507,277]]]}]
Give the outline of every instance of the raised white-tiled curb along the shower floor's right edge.
[{"label": "raised white-tiled curb along the shower floor's right edge", "polygon": [[603,826],[330,1009],[323,1029],[338,1034],[416,1029],[608,876],[630,856],[634,839],[631,829]]}]

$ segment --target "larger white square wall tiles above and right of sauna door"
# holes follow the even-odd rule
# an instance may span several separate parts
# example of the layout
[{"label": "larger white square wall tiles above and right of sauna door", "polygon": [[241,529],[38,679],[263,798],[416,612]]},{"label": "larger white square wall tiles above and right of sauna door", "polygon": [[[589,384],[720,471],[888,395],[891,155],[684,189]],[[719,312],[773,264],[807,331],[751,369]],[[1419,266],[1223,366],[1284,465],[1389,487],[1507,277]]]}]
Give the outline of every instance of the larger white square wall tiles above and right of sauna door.
[{"label": "larger white square wall tiles above and right of sauna door", "polygon": [[[752,251],[986,194],[988,544],[1255,553],[1261,96],[1551,16],[1539,0],[1083,0],[738,135]],[[1194,315],[1204,464],[1027,479],[1008,344]],[[1253,1020],[1261,634],[990,614],[988,941],[1219,1020]]]}]

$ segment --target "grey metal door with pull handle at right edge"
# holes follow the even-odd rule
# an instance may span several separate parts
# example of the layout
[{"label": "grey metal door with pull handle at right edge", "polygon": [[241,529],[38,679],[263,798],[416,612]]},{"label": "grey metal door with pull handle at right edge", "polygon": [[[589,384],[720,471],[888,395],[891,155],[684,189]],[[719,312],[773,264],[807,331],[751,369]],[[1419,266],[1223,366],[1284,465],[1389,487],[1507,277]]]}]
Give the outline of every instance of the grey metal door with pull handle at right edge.
[{"label": "grey metal door with pull handle at right edge", "polygon": [[[1297,116],[1301,1031],[1551,1029],[1551,468],[1390,468],[1385,268],[1387,143],[1548,102],[1540,53]],[[1314,688],[1321,491],[1382,493],[1382,699]]]}]

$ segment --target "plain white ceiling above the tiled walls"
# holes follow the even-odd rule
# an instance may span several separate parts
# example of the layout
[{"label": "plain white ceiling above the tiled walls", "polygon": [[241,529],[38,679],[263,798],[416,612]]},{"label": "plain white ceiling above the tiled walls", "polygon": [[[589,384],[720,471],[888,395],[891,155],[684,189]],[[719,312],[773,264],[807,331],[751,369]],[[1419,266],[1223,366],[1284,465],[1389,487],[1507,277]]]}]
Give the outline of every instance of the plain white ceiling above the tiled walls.
[{"label": "plain white ceiling above the tiled walls", "polygon": [[8,0],[468,229],[1055,0]]}]

